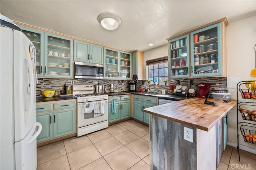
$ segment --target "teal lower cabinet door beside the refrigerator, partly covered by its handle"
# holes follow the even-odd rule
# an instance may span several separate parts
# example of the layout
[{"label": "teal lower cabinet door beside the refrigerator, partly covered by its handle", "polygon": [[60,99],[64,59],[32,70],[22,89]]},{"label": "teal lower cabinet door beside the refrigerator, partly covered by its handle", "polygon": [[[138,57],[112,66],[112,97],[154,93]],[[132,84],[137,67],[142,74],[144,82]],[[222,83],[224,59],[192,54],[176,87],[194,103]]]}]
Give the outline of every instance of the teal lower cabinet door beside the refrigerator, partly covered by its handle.
[{"label": "teal lower cabinet door beside the refrigerator, partly covered by its handle", "polygon": [[36,141],[42,142],[44,140],[52,139],[52,125],[53,125],[53,117],[51,112],[37,113],[36,121],[41,123],[42,131],[37,136]]}]

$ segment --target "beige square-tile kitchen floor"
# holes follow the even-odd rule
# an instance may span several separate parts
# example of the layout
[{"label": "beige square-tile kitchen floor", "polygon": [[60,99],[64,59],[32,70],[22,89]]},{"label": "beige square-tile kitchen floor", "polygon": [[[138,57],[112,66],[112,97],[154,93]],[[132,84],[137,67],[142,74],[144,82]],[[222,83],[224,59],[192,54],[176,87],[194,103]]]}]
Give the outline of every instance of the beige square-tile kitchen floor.
[{"label": "beige square-tile kitchen floor", "polygon": [[[149,170],[149,127],[134,120],[37,148],[37,170]],[[217,170],[256,170],[256,155],[227,146]]]}]

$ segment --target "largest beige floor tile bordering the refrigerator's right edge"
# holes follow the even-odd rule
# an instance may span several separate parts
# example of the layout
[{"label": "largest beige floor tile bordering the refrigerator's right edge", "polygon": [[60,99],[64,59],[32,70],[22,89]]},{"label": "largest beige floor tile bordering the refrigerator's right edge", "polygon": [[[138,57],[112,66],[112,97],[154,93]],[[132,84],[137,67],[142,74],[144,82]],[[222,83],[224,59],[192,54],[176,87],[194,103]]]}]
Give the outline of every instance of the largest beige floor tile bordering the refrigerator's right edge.
[{"label": "largest beige floor tile bordering the refrigerator's right edge", "polygon": [[64,143],[56,144],[37,151],[37,165],[66,155]]}]

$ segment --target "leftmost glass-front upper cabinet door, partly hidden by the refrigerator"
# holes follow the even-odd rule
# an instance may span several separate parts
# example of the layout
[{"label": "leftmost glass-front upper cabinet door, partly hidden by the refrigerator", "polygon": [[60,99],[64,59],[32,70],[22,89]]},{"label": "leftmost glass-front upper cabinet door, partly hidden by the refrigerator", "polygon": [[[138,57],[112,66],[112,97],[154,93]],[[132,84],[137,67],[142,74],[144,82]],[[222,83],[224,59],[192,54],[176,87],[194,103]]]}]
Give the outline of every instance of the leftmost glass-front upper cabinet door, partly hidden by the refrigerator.
[{"label": "leftmost glass-front upper cabinet door, partly hidden by the refrigerator", "polygon": [[44,32],[24,27],[20,28],[36,47],[36,73],[38,77],[44,77]]}]

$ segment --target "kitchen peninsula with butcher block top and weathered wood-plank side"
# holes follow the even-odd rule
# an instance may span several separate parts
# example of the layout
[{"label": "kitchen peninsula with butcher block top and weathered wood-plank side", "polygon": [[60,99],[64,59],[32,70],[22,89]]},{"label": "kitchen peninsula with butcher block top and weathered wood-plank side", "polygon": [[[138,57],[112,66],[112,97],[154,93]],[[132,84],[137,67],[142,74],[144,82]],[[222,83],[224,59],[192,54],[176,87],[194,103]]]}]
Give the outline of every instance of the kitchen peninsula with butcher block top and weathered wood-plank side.
[{"label": "kitchen peninsula with butcher block top and weathered wood-plank side", "polygon": [[[151,169],[216,169],[216,123],[230,111],[236,101],[223,103],[191,98],[143,109],[150,114]],[[193,142],[184,139],[184,127],[192,128]],[[217,163],[218,164],[218,163]]]}]

